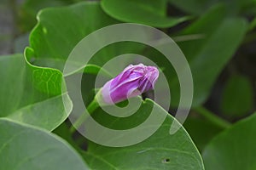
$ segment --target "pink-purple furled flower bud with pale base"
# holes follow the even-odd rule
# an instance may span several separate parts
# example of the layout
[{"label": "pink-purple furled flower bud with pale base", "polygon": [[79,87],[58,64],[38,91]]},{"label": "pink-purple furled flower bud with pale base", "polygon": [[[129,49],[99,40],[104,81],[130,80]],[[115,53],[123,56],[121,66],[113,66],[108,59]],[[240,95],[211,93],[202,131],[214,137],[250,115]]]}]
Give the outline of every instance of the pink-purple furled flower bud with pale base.
[{"label": "pink-purple furled flower bud with pale base", "polygon": [[129,65],[117,77],[102,88],[102,99],[106,104],[114,104],[154,89],[159,71],[154,66]]}]

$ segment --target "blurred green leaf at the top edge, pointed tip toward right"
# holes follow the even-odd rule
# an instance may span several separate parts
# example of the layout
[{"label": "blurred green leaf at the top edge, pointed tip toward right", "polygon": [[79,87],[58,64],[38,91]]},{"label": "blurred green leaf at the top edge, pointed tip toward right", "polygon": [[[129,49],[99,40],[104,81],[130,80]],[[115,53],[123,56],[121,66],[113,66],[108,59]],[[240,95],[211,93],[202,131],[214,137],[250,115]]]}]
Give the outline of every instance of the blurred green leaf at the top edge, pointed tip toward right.
[{"label": "blurred green leaf at the top edge, pointed tip toward right", "polygon": [[189,17],[167,17],[166,0],[103,0],[103,10],[117,20],[166,28],[188,20]]}]

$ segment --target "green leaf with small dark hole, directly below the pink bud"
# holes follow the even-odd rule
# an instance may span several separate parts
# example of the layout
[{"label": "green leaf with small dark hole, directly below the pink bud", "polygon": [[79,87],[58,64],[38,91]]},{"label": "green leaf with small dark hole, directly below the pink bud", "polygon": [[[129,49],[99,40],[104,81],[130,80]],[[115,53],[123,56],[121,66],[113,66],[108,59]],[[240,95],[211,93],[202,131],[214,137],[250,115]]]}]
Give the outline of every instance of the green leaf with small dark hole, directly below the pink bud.
[{"label": "green leaf with small dark hole, directly below the pink bud", "polygon": [[[146,99],[141,108],[129,117],[109,116],[101,109],[94,112],[93,116],[105,127],[129,129],[144,122],[153,106],[160,116],[166,115],[166,121],[152,136],[138,144],[121,148],[89,142],[88,150],[83,154],[88,166],[92,169],[204,169],[201,156],[189,134],[181,127],[171,135],[172,122],[177,121],[152,100]],[[151,127],[143,127],[143,132],[147,132],[147,128]],[[104,132],[97,134],[97,138],[101,139],[102,135]],[[137,135],[140,136],[140,131]],[[110,139],[122,140],[123,136],[120,134]]]}]

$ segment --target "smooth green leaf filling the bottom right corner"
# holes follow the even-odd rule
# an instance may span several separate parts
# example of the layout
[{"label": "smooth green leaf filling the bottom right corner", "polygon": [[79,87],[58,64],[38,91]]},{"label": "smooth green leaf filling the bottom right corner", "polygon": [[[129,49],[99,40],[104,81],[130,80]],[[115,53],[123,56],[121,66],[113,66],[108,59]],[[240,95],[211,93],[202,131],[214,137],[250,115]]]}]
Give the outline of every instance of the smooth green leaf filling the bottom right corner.
[{"label": "smooth green leaf filling the bottom right corner", "polygon": [[203,152],[207,170],[255,169],[255,129],[256,113],[212,139]]}]

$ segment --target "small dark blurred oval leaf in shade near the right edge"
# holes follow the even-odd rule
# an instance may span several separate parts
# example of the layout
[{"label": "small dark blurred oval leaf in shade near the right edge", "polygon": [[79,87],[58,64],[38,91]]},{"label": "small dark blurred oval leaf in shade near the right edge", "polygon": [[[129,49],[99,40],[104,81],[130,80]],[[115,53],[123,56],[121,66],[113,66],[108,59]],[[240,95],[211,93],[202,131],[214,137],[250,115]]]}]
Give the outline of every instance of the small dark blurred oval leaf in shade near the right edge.
[{"label": "small dark blurred oval leaf in shade near the right edge", "polygon": [[224,85],[221,110],[226,116],[243,116],[253,109],[253,85],[247,77],[232,76]]}]

